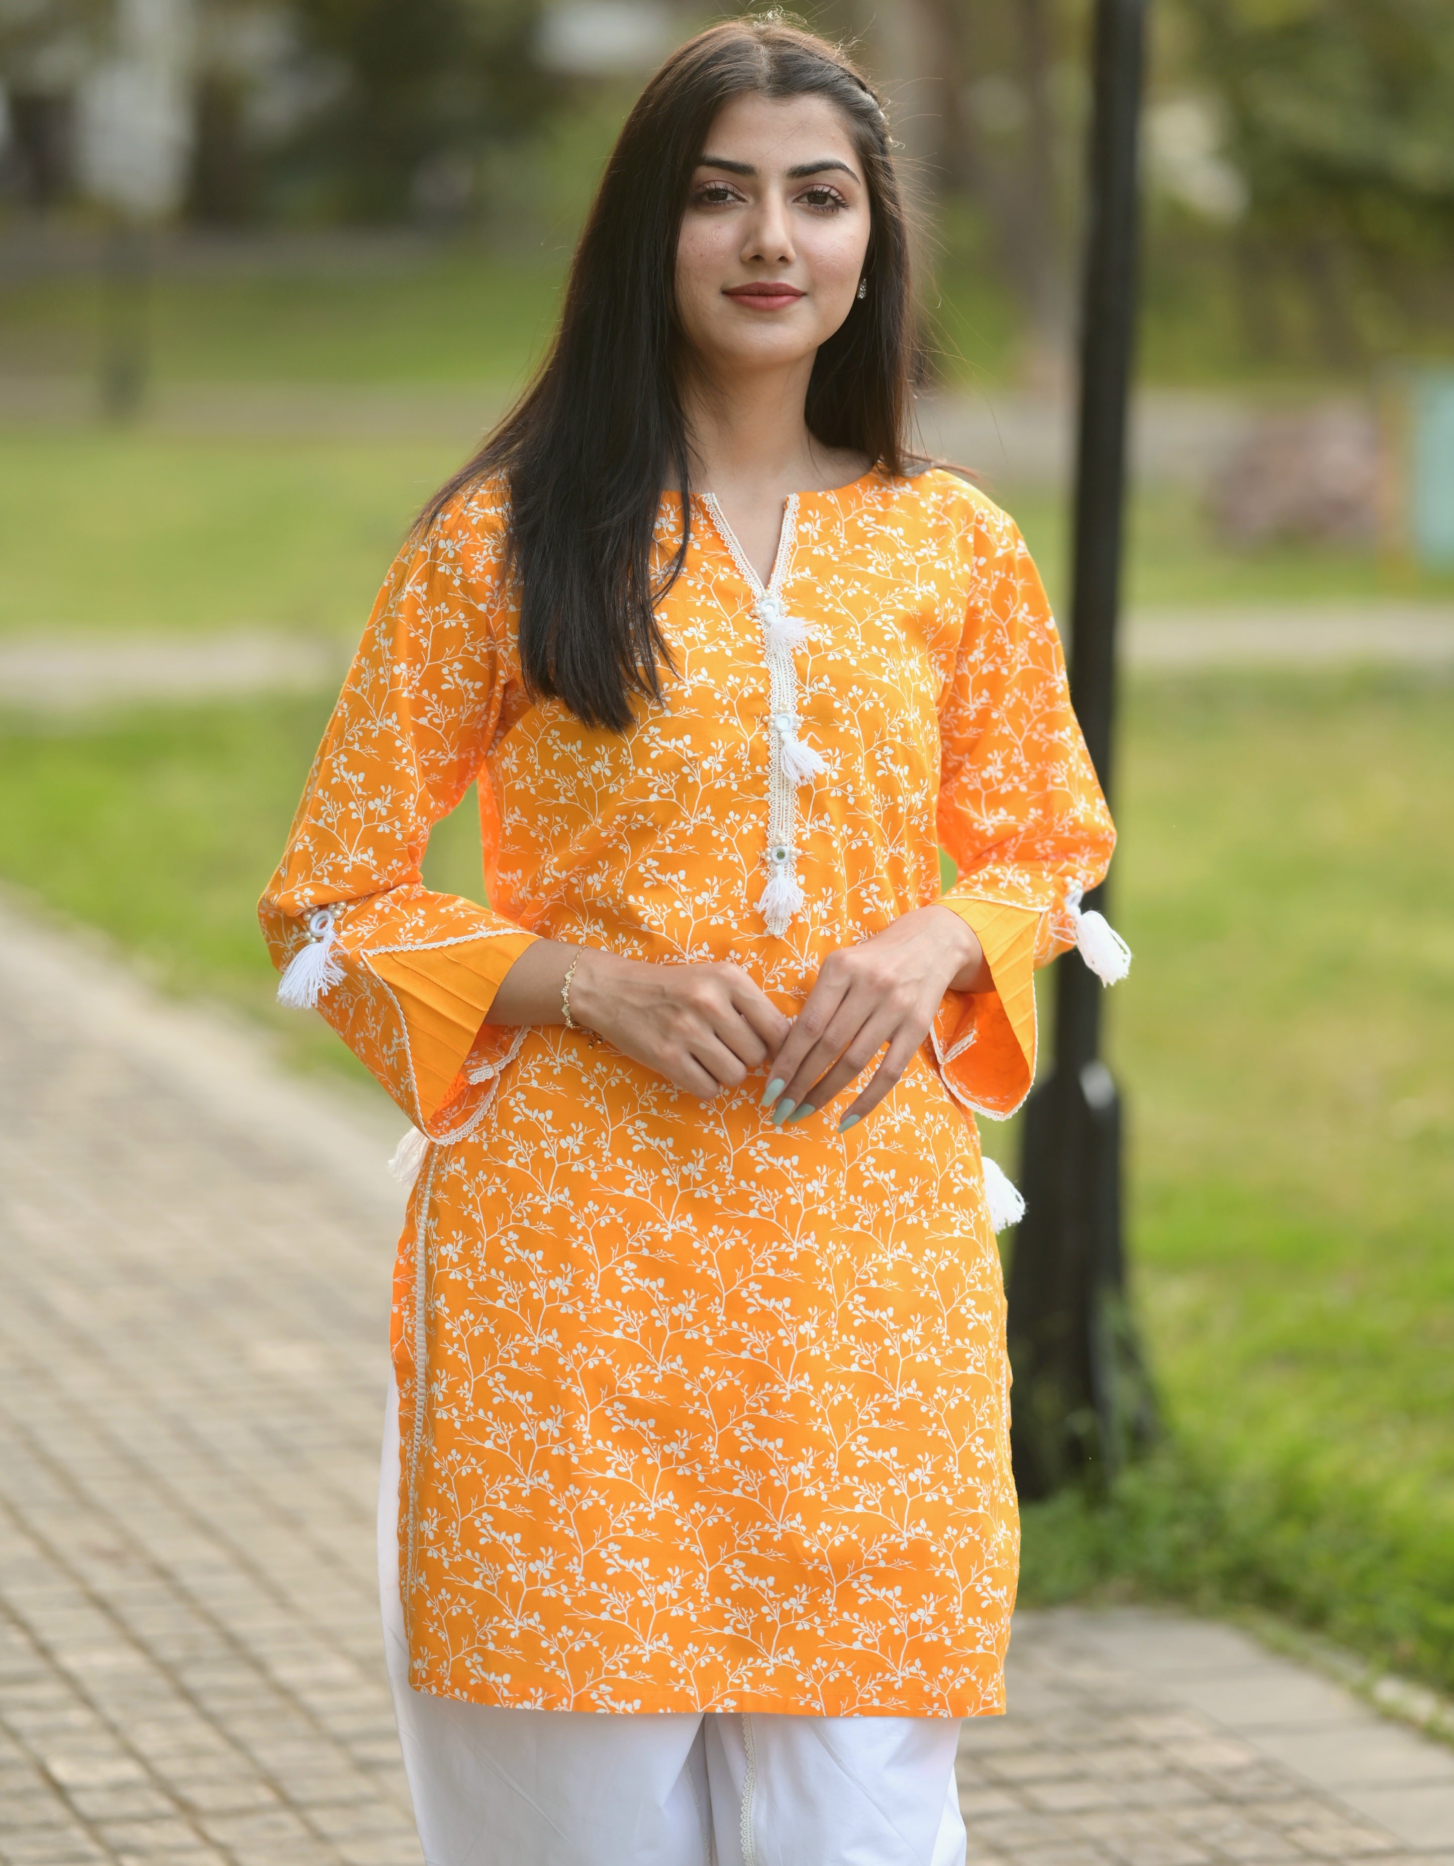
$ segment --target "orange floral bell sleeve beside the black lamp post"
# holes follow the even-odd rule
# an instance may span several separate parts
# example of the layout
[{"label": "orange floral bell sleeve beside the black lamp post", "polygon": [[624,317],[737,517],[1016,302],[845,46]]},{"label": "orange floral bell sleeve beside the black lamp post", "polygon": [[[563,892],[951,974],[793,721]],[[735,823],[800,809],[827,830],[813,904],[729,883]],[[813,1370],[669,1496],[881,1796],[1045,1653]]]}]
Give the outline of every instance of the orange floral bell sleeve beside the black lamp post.
[{"label": "orange floral bell sleeve beside the black lamp post", "polygon": [[958,868],[941,903],[978,935],[993,989],[946,993],[931,1047],[956,1099],[1008,1120],[1034,1082],[1036,967],[1079,944],[1111,983],[1129,952],[1099,914],[1081,914],[1116,832],[1040,575],[1017,526],[987,502],[974,506],[972,549],[974,582],[939,703],[937,829]]}]

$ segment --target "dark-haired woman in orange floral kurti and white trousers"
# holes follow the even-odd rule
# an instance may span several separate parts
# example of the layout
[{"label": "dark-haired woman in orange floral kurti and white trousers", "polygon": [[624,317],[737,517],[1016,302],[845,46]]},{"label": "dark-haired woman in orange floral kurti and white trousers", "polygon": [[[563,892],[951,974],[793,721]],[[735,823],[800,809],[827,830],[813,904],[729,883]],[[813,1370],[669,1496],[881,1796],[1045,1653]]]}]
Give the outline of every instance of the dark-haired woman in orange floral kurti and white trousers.
[{"label": "dark-haired woman in orange floral kurti and white trousers", "polygon": [[[971,1110],[1112,830],[1019,534],[905,452],[888,151],[808,34],[663,65],[263,899],[427,1136],[381,1577],[431,1866],[963,1860],[1017,1560]],[[476,778],[489,907],[420,883]]]}]

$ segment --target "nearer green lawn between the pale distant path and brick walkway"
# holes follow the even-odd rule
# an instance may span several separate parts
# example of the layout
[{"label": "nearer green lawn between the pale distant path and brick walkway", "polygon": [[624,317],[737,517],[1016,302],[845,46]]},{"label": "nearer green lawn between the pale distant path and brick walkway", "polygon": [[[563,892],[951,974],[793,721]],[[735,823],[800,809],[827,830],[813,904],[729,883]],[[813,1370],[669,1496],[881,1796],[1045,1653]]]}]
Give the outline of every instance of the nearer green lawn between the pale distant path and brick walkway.
[{"label": "nearer green lawn between the pale distant path and brick walkway", "polygon": [[[325,715],[11,730],[0,875],[357,1075],[273,1008],[252,918]],[[1428,677],[1127,694],[1109,1010],[1170,1437],[1027,1511],[1027,1599],[1256,1603],[1454,1685],[1452,715]],[[470,829],[435,884],[478,886]]]}]

